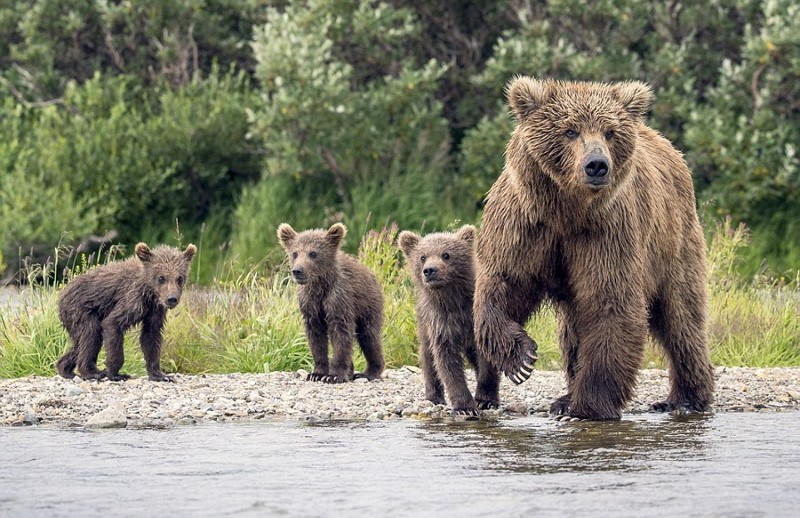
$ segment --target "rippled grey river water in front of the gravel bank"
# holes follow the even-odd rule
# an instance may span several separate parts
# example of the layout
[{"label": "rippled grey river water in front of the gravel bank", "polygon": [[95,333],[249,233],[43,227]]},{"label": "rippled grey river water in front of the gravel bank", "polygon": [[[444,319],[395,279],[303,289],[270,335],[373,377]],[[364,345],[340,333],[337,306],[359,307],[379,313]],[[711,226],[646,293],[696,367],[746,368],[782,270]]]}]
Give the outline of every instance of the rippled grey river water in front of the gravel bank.
[{"label": "rippled grey river water in front of the gravel bank", "polygon": [[798,516],[800,413],[0,428],[0,516]]}]

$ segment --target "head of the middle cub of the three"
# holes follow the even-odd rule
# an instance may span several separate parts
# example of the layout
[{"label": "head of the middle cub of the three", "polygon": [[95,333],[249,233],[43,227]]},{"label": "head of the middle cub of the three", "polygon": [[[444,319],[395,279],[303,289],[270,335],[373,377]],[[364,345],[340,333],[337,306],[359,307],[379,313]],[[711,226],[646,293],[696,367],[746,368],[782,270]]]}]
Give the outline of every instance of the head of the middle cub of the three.
[{"label": "head of the middle cub of the three", "polygon": [[347,227],[334,223],[328,230],[306,230],[299,234],[282,223],[278,240],[289,258],[292,279],[297,284],[329,278],[337,267],[336,255],[347,235]]}]

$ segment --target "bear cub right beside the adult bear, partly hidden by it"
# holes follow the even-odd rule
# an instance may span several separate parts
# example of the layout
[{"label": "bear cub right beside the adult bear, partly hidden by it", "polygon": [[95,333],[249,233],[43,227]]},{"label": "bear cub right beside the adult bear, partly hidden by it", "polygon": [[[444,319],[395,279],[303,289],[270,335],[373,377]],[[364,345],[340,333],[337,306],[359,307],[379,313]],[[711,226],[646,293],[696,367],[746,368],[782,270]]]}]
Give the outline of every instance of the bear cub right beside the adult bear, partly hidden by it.
[{"label": "bear cub right beside the adult bear, partly hidden by it", "polygon": [[[475,291],[475,227],[420,237],[401,232],[398,245],[416,287],[417,338],[425,397],[455,414],[477,416],[500,404],[500,373],[475,349],[472,299]],[[475,369],[475,398],[467,388],[464,357]]]}]

